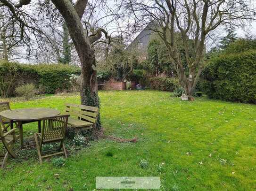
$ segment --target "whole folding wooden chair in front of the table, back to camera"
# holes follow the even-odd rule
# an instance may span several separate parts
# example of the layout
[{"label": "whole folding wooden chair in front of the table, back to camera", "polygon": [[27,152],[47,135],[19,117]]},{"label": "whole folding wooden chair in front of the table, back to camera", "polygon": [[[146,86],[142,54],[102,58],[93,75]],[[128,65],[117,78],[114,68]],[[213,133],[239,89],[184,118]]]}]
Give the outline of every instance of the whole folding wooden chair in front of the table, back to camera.
[{"label": "whole folding wooden chair in front of the table, back to camera", "polygon": [[[50,117],[43,119],[43,127],[41,133],[36,133],[35,143],[37,147],[37,153],[40,163],[43,158],[51,157],[57,154],[64,154],[67,158],[66,148],[64,145],[67,120],[69,115],[58,115],[56,117]],[[58,149],[42,151],[42,145],[60,142]],[[63,151],[61,151],[63,149]],[[58,151],[57,153],[42,155],[43,153]]]}]

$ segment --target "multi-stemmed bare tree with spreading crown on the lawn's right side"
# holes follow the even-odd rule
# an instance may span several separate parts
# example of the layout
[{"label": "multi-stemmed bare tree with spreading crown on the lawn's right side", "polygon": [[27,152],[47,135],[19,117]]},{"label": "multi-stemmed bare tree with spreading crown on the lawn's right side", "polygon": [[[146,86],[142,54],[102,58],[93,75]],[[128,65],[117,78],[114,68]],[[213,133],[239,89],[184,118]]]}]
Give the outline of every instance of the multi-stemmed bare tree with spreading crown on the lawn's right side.
[{"label": "multi-stemmed bare tree with spreading crown on the lawn's right side", "polygon": [[[132,17],[135,30],[151,21],[157,23],[153,30],[168,48],[180,84],[190,98],[205,65],[210,34],[227,23],[244,26],[245,20],[253,20],[256,15],[251,0],[122,0],[119,6]],[[188,70],[182,64],[177,34],[182,35]]]}]

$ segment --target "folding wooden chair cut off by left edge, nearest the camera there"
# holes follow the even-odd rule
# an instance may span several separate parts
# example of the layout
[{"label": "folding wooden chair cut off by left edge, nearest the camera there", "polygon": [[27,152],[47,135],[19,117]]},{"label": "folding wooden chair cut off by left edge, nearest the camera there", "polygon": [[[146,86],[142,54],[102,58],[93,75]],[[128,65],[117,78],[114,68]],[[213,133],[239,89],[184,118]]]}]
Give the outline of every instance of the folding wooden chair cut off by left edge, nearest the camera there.
[{"label": "folding wooden chair cut off by left edge, nearest the camera there", "polygon": [[[13,147],[15,145],[15,142],[19,139],[19,135],[15,135],[15,130],[18,128],[13,128],[11,130],[6,130],[5,125],[0,118],[0,144],[4,145],[7,152],[3,155],[0,154],[0,157],[3,157],[3,161],[0,162],[1,168],[4,168],[6,165],[6,161],[8,159],[8,155],[11,155],[12,157],[16,158],[15,153],[13,152]],[[4,131],[5,130],[5,131]]]}]

